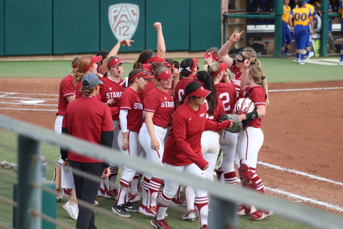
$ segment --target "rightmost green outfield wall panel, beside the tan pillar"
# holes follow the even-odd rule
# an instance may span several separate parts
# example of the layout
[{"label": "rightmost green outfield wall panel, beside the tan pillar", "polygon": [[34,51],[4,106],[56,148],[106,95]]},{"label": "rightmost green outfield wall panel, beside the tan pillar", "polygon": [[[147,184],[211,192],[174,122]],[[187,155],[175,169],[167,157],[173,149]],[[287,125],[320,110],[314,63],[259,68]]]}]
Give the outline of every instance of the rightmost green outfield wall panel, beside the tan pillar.
[{"label": "rightmost green outfield wall panel, beside the tan pillar", "polygon": [[190,0],[190,49],[221,47],[221,0]]}]

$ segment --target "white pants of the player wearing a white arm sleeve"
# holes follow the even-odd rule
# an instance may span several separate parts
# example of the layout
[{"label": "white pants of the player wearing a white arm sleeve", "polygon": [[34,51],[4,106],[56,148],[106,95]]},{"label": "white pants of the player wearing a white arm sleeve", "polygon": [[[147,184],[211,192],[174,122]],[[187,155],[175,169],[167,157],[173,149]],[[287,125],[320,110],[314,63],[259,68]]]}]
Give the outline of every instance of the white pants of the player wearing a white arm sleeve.
[{"label": "white pants of the player wearing a white arm sleeve", "polygon": [[[128,139],[129,139],[129,148],[127,150],[122,150],[121,147],[123,145],[123,134],[120,130],[118,135],[118,146],[120,147],[120,152],[129,155],[130,157],[138,157],[137,154],[137,143],[138,143],[138,134],[137,132],[133,132],[128,130]],[[130,168],[127,166],[123,166],[123,170],[121,171],[120,178],[123,178],[127,181],[132,181],[134,174],[136,173],[136,169]]]}]

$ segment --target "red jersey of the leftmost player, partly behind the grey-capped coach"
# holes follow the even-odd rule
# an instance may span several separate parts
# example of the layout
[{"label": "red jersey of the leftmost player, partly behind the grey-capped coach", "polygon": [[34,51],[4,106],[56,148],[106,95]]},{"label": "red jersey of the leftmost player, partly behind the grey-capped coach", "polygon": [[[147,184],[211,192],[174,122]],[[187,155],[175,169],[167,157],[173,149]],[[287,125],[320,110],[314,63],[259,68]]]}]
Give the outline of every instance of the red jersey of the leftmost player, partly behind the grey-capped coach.
[{"label": "red jersey of the leftmost player, partly behind the grey-capped coach", "polygon": [[72,75],[68,75],[64,77],[60,83],[60,93],[58,97],[58,112],[56,113],[56,115],[64,115],[67,109],[67,105],[69,103],[66,98],[74,94],[74,77]]}]

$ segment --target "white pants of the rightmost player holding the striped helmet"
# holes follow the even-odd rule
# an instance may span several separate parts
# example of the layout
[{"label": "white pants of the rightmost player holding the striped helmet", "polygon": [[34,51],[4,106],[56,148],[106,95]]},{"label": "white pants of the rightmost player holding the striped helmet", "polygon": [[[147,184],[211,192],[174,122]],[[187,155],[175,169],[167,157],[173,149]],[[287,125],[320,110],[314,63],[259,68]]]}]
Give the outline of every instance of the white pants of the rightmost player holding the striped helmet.
[{"label": "white pants of the rightmost player holding the striped helmet", "polygon": [[263,132],[260,128],[249,126],[239,132],[238,154],[242,164],[256,168],[257,155],[263,144]]}]

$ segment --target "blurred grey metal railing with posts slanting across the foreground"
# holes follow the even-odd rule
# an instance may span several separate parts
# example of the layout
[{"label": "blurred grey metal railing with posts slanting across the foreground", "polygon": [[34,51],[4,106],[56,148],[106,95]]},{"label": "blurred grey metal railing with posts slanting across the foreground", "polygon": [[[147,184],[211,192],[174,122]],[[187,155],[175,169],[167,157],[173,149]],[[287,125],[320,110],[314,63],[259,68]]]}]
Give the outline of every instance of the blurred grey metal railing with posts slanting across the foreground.
[{"label": "blurred grey metal railing with posts slanting across the foreground", "polygon": [[[249,190],[233,188],[219,182],[209,182],[170,168],[156,166],[149,161],[130,158],[108,147],[92,144],[64,134],[58,135],[52,130],[43,129],[2,115],[0,115],[0,127],[19,135],[19,193],[17,198],[18,207],[16,208],[17,228],[19,229],[40,229],[42,228],[42,217],[48,218],[41,214],[40,142],[54,144],[64,149],[70,149],[106,161],[114,161],[119,165],[139,168],[140,171],[151,174],[160,174],[167,179],[178,180],[182,184],[207,190],[211,195],[209,222],[211,228],[237,228],[236,203],[249,203],[262,209],[271,209],[276,214],[317,228],[338,229],[342,228],[343,225],[341,217],[315,208],[268,195],[262,196]],[[21,166],[22,163],[25,163],[25,166]]]}]

